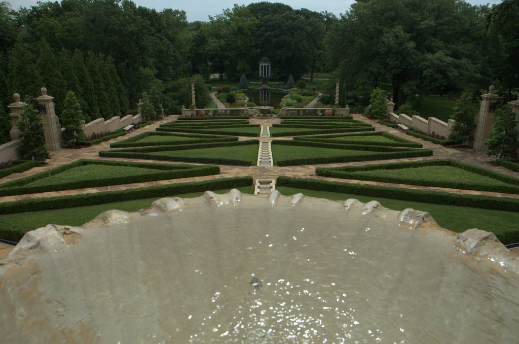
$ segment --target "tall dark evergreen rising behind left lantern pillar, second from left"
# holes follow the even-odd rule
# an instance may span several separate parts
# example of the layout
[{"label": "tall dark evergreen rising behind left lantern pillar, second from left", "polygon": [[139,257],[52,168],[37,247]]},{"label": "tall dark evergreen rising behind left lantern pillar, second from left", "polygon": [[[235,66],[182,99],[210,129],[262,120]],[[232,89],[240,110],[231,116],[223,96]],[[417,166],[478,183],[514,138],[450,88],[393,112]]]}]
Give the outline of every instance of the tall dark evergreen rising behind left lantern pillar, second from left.
[{"label": "tall dark evergreen rising behind left lantern pillar, second from left", "polygon": [[42,85],[54,97],[54,110],[59,117],[65,100],[66,83],[58,69],[58,59],[45,39],[39,43],[36,67],[42,77]]}]

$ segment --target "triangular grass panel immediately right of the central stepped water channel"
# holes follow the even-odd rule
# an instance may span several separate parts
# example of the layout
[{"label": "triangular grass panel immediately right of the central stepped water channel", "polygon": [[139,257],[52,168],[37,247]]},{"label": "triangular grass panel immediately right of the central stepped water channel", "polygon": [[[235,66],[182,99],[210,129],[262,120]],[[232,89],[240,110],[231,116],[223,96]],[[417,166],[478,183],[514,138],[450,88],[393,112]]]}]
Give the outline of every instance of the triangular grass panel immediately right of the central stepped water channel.
[{"label": "triangular grass panel immediately right of the central stepped water channel", "polygon": [[354,151],[349,149],[306,147],[301,145],[272,144],[272,155],[274,165],[278,160],[315,158],[315,157],[335,157],[335,156],[354,156],[354,155],[376,155],[380,152]]}]

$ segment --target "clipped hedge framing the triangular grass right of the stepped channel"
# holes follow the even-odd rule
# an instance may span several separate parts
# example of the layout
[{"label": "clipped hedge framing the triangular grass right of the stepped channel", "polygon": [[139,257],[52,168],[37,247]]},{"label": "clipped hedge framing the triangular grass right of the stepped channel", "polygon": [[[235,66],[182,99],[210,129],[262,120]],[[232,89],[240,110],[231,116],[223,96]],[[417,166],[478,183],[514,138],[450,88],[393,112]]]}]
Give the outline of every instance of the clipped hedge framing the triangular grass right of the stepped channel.
[{"label": "clipped hedge framing the triangular grass right of the stepped channel", "polygon": [[331,164],[331,163],[345,163],[352,161],[371,161],[371,160],[387,160],[408,157],[431,156],[430,149],[413,149],[413,148],[399,148],[399,147],[385,147],[375,145],[351,145],[351,144],[336,144],[336,143],[322,143],[322,142],[305,142],[305,141],[286,141],[286,140],[272,140],[272,144],[281,145],[299,145],[306,147],[321,147],[321,148],[335,148],[345,150],[362,150],[380,152],[380,154],[372,155],[347,155],[347,156],[322,156],[313,158],[297,158],[277,160],[277,166],[294,166],[294,165],[316,165],[316,164]]}]

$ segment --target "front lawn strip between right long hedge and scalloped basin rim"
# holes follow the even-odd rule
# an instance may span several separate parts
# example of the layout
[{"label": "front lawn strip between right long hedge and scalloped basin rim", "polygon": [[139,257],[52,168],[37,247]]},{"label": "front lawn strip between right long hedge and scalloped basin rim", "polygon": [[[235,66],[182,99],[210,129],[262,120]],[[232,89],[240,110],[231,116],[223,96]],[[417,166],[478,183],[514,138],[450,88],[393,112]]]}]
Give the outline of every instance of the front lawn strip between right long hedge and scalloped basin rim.
[{"label": "front lawn strip between right long hedge and scalloped basin rim", "polygon": [[[279,190],[283,195],[292,195],[298,192],[302,192],[307,196],[321,197],[329,200],[343,201],[347,199],[357,199],[364,203],[373,200],[373,197],[344,193],[322,192],[285,187],[277,187],[276,189]],[[428,211],[441,227],[458,233],[466,231],[467,229],[478,228],[481,230],[494,232],[498,238],[504,238],[504,233],[509,231],[517,232],[518,230],[517,223],[519,223],[519,213],[516,212],[399,201],[391,199],[377,199],[377,201],[379,201],[386,208],[393,210],[413,208],[416,210]],[[511,242],[503,243],[511,244]]]}]

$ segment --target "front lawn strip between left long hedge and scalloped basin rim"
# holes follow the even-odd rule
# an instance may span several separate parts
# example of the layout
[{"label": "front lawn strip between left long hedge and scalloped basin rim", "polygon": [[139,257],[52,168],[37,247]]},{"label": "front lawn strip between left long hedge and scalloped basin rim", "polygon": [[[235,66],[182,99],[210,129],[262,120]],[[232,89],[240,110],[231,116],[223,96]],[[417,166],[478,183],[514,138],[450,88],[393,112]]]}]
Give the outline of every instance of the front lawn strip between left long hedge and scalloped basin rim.
[{"label": "front lawn strip between left long hedge and scalloped basin rim", "polygon": [[[253,187],[243,187],[238,188],[243,193],[254,193]],[[216,193],[226,193],[229,190],[216,190]],[[201,196],[203,192],[197,193],[189,193],[182,195],[171,195],[171,196],[179,196],[179,197],[198,197]],[[162,198],[162,197],[159,197]],[[103,211],[118,209],[124,211],[137,211],[139,209],[148,208],[151,206],[152,202],[156,201],[158,198],[152,199],[144,199],[144,200],[135,200],[135,201],[126,201],[126,202],[117,202],[117,203],[106,203],[101,205],[92,205],[86,207],[76,207],[76,208],[65,208],[65,209],[57,209],[57,210],[45,210],[45,211],[35,211],[33,213],[23,213],[23,214],[11,214],[11,215],[2,215],[0,216],[0,228],[5,229],[9,228],[12,231],[31,231],[36,228],[45,227],[49,223],[54,224],[67,224],[69,226],[81,226]],[[1,233],[1,232],[0,232]]]}]

